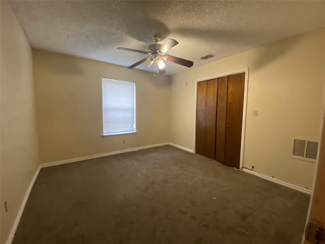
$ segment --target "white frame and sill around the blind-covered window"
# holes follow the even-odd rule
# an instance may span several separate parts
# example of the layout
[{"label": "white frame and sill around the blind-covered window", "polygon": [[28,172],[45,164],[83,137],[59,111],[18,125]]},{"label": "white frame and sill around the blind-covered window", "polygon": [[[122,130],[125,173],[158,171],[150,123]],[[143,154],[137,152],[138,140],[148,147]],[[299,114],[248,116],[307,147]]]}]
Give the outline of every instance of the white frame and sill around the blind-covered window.
[{"label": "white frame and sill around the blind-covered window", "polygon": [[[109,133],[109,134],[104,134],[104,101],[103,101],[103,81],[104,80],[113,80],[113,81],[120,81],[120,82],[128,82],[128,83],[133,83],[134,84],[134,114],[135,114],[135,128],[134,131],[124,131],[124,132],[117,132],[117,133]],[[101,82],[101,89],[102,89],[102,136],[101,137],[111,137],[111,136],[121,136],[121,135],[133,135],[137,134],[137,112],[136,112],[136,81],[129,81],[129,80],[120,80],[120,79],[112,79],[112,78],[107,78],[107,77],[102,77],[102,82]]]}]

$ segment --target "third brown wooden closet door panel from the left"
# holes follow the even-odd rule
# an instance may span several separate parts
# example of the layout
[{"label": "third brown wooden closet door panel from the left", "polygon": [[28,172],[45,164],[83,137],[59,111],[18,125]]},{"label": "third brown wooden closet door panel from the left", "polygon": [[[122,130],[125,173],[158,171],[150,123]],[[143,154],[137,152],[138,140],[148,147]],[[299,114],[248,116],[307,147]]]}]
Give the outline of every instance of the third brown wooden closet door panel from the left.
[{"label": "third brown wooden closet door panel from the left", "polygon": [[218,107],[216,118],[215,160],[224,164],[225,127],[228,97],[228,76],[218,79]]}]

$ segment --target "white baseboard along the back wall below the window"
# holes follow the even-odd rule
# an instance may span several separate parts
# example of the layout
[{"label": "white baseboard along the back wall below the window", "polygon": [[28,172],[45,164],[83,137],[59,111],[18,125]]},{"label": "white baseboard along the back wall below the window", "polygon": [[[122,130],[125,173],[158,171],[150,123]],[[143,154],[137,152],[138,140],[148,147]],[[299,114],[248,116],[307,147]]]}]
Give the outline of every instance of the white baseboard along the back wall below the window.
[{"label": "white baseboard along the back wall below the window", "polygon": [[148,145],[148,146],[139,146],[139,147],[128,148],[128,149],[118,150],[118,151],[111,151],[110,153],[105,153],[105,154],[96,154],[96,155],[79,157],[79,158],[74,158],[74,159],[60,160],[60,161],[56,161],[56,162],[42,164],[41,168],[46,168],[46,167],[51,167],[51,166],[61,165],[61,164],[69,164],[69,163],[74,163],[74,162],[79,162],[79,161],[84,161],[84,160],[89,160],[89,159],[97,159],[97,158],[112,156],[112,155],[116,155],[116,154],[129,153],[130,151],[138,151],[138,150],[142,150],[142,149],[147,149],[147,148],[157,147],[157,146],[165,146],[165,145],[168,145],[168,142],[160,143],[160,144],[153,144],[153,145]]}]

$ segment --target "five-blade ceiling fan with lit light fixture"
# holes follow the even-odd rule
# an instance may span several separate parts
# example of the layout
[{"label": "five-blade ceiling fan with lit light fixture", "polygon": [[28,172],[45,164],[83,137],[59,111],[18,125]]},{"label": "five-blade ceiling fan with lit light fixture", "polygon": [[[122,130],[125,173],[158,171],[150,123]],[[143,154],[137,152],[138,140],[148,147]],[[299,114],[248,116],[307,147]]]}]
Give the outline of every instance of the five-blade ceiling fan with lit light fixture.
[{"label": "five-blade ceiling fan with lit light fixture", "polygon": [[160,36],[158,36],[158,35],[153,35],[152,40],[155,43],[150,44],[148,46],[147,51],[129,49],[129,48],[124,48],[124,47],[117,48],[118,50],[140,52],[140,53],[150,55],[150,57],[141,59],[139,62],[127,67],[127,69],[133,69],[133,68],[137,67],[138,65],[141,65],[142,63],[146,63],[147,66],[150,67],[153,63],[155,63],[155,65],[158,67],[159,74],[164,74],[166,72],[164,60],[178,64],[178,65],[186,66],[186,67],[193,66],[193,62],[190,60],[186,60],[186,59],[183,59],[180,57],[175,57],[172,55],[165,54],[169,49],[171,49],[172,47],[174,47],[178,44],[178,42],[176,40],[169,38],[163,44],[158,44],[157,42],[160,41]]}]

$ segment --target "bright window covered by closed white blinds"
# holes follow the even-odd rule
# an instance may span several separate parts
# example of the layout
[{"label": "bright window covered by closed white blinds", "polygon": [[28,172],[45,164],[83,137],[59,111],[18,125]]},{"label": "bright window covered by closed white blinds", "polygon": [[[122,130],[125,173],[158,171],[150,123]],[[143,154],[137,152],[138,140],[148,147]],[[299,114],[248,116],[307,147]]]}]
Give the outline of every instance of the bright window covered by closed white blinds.
[{"label": "bright window covered by closed white blinds", "polygon": [[103,135],[136,132],[135,82],[102,78]]}]

